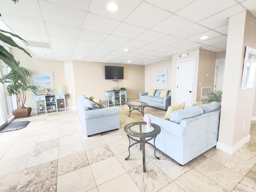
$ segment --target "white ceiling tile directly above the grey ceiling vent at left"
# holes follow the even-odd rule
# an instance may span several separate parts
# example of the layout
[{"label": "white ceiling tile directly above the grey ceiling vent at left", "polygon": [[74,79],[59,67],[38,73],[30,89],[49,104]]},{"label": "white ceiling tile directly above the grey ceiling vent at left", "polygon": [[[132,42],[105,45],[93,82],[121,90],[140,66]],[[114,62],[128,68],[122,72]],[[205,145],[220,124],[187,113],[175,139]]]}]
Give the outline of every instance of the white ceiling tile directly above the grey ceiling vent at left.
[{"label": "white ceiling tile directly above the grey ceiling vent at left", "polygon": [[13,32],[24,40],[49,42],[48,36],[46,34],[20,31],[20,30],[13,30]]}]

